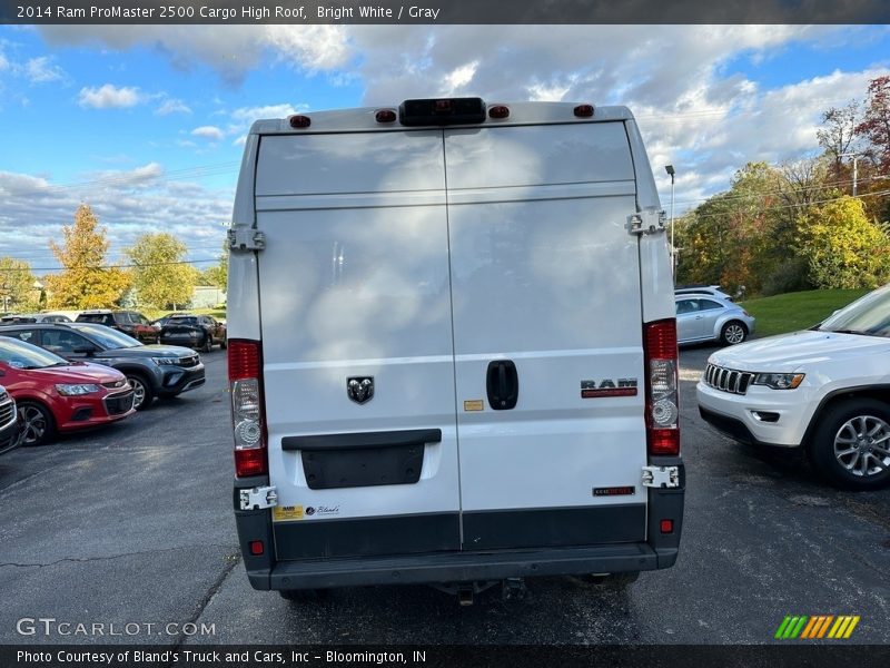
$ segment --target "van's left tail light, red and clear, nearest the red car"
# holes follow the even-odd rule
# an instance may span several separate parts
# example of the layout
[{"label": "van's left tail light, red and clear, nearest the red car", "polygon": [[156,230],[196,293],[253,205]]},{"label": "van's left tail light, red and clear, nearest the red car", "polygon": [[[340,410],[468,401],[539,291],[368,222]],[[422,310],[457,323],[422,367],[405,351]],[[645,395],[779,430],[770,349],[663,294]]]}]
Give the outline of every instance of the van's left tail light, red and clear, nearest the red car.
[{"label": "van's left tail light, red and clear, nearest the red car", "polygon": [[235,438],[235,475],[269,472],[263,410],[263,348],[258,341],[229,340],[229,392]]}]

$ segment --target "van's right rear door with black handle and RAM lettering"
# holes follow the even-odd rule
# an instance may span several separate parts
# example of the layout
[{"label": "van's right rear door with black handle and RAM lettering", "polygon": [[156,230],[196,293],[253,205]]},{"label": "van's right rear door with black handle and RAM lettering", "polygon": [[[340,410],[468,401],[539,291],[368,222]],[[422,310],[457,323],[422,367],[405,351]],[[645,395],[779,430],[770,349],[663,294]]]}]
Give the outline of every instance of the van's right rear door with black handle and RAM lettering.
[{"label": "van's right rear door with black handle and RAM lettering", "polygon": [[645,540],[624,124],[446,129],[445,154],[463,549]]}]

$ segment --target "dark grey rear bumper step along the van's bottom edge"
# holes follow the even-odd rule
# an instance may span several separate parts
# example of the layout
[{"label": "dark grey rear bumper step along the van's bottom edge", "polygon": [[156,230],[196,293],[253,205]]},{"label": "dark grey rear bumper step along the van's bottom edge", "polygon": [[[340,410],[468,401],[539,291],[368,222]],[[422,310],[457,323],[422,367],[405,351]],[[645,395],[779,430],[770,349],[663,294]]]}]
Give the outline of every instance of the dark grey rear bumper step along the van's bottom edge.
[{"label": "dark grey rear bumper step along the van's bottom edge", "polygon": [[672,566],[676,550],[655,552],[647,543],[526,551],[448,552],[400,557],[365,557],[279,561],[267,571],[248,571],[255,589],[327,589],[370,584],[443,584],[537,576],[616,573]]}]

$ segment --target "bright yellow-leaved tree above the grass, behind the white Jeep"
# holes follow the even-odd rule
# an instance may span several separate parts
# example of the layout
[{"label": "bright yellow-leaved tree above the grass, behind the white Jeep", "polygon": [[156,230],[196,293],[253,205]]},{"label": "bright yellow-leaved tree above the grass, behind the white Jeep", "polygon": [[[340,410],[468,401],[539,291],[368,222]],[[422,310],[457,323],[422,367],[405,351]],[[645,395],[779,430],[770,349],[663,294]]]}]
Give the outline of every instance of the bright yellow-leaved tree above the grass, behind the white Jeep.
[{"label": "bright yellow-leaved tree above the grass, behind the white Jeep", "polygon": [[877,287],[890,281],[890,239],[860,199],[841,197],[799,220],[798,252],[815,287]]}]

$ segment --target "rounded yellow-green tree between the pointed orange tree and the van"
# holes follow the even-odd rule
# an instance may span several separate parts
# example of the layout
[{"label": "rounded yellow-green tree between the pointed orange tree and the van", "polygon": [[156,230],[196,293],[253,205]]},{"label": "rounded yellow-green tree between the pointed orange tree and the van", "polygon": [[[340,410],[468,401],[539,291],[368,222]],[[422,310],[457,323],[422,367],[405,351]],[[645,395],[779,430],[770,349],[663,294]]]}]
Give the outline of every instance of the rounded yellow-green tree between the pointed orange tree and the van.
[{"label": "rounded yellow-green tree between the pointed orange tree and the van", "polygon": [[175,236],[145,234],[123,253],[134,264],[132,285],[139,303],[177,308],[191,301],[198,271],[185,262],[188,248]]}]

